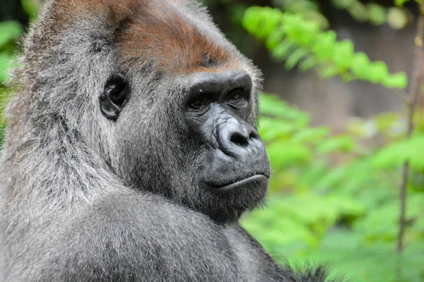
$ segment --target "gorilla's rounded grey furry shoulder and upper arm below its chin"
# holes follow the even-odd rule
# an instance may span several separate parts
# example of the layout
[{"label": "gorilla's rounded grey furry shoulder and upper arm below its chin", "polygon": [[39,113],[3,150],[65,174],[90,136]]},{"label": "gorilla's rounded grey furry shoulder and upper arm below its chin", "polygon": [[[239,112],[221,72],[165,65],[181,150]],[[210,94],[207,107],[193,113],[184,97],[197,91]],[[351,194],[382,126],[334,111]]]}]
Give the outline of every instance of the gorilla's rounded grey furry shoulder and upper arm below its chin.
[{"label": "gorilla's rounded grey furry shoulder and upper arm below its chin", "polygon": [[222,228],[203,214],[131,190],[89,208],[19,281],[248,281]]}]

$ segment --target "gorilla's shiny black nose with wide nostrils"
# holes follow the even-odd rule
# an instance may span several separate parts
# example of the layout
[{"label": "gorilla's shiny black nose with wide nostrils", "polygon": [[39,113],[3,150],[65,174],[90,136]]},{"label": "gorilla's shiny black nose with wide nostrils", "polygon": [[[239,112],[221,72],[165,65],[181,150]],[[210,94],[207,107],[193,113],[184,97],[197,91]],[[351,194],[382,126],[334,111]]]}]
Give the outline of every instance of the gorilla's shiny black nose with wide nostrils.
[{"label": "gorilla's shiny black nose with wide nostrils", "polygon": [[252,126],[238,121],[237,118],[228,118],[218,128],[217,142],[225,154],[236,159],[254,157],[264,152],[264,145]]}]

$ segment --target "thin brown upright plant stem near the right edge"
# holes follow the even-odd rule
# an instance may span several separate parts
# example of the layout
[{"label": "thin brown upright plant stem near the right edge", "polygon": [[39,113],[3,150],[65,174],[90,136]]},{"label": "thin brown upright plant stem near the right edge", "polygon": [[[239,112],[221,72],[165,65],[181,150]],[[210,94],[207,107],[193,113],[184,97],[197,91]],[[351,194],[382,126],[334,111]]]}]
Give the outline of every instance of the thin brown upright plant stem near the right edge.
[{"label": "thin brown upright plant stem near the right edge", "polygon": [[[409,86],[408,101],[408,132],[406,137],[410,138],[413,129],[413,114],[416,109],[418,97],[420,95],[419,79],[421,72],[421,60],[423,57],[423,33],[424,33],[424,4],[420,4],[420,16],[417,24],[417,34],[414,40],[415,49],[413,54],[413,73],[411,77],[411,85]],[[404,250],[404,233],[406,225],[406,188],[408,187],[409,161],[406,161],[402,168],[402,180],[400,186],[401,214],[399,216],[399,234],[397,238],[396,250],[401,254]]]}]

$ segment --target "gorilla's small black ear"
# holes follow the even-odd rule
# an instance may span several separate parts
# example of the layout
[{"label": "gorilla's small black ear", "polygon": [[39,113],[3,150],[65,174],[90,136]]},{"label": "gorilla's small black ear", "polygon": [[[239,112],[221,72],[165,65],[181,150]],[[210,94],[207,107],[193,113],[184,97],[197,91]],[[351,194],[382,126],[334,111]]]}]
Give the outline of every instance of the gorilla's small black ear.
[{"label": "gorilla's small black ear", "polygon": [[99,97],[100,111],[102,111],[103,116],[116,121],[129,99],[130,92],[129,82],[124,75],[110,76],[106,82],[105,90]]}]

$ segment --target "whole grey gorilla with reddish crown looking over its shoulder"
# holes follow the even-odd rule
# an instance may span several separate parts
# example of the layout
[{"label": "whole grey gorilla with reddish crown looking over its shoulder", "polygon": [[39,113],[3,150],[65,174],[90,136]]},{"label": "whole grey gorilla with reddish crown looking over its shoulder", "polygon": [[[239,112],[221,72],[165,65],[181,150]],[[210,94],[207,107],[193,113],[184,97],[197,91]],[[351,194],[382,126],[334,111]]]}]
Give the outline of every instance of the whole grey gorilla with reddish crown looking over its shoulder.
[{"label": "whole grey gorilla with reddish crown looking over its shoulder", "polygon": [[330,281],[238,220],[264,201],[261,76],[194,0],[50,0],[13,72],[0,281]]}]

